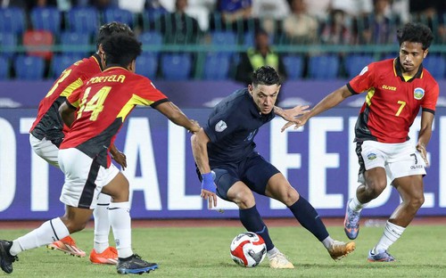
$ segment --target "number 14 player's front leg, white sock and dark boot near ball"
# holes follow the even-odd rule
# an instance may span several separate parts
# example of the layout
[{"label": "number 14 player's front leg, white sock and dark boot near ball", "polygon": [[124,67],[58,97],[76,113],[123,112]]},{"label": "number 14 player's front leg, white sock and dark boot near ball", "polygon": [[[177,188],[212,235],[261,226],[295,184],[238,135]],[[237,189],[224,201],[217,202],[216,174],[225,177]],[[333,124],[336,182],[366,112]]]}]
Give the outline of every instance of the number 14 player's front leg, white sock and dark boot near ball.
[{"label": "number 14 player's front leg, white sock and dark boot near ball", "polygon": [[133,253],[131,218],[128,202],[128,180],[117,168],[105,171],[102,192],[111,196],[109,220],[118,251],[117,270],[120,274],[143,274],[158,268]]}]

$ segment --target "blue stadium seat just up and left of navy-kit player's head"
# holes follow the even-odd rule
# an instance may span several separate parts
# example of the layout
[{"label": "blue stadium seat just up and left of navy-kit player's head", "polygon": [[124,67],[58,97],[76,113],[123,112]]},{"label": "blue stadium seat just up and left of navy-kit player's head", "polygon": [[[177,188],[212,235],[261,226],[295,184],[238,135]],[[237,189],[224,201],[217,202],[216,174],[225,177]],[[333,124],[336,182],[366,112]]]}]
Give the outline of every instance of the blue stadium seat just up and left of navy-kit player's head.
[{"label": "blue stadium seat just up and left of navy-kit player's head", "polygon": [[229,72],[230,57],[224,53],[208,53],[203,67],[203,79],[224,80]]}]

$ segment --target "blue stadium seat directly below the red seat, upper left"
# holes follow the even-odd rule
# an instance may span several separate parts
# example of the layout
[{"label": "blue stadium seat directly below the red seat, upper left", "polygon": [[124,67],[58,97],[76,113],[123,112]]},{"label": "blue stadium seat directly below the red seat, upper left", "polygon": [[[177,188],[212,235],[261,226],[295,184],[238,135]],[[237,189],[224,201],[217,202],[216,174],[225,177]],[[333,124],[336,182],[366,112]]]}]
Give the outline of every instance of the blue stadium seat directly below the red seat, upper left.
[{"label": "blue stadium seat directly below the red seat, upper left", "polygon": [[45,61],[37,56],[18,56],[14,61],[17,79],[40,80],[44,78]]}]

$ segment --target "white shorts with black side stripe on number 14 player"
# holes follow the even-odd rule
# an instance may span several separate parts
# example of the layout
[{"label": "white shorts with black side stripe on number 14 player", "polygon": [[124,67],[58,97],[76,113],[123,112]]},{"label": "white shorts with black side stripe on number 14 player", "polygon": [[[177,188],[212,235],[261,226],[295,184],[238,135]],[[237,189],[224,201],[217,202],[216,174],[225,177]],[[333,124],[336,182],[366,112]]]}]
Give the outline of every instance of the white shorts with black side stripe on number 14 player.
[{"label": "white shorts with black side stripe on number 14 player", "polygon": [[120,173],[112,163],[110,168],[103,168],[76,148],[60,150],[59,165],[65,174],[60,200],[75,208],[95,209],[103,186]]}]

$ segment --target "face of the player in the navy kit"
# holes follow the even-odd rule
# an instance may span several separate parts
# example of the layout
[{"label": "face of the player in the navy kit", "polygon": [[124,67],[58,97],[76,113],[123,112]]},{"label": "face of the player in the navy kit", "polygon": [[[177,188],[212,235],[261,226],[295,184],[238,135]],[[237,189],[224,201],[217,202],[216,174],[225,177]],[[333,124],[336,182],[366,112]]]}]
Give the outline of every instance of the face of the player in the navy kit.
[{"label": "face of the player in the navy kit", "polygon": [[269,114],[276,103],[280,85],[249,85],[248,90],[260,113]]}]

